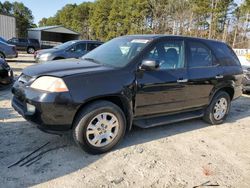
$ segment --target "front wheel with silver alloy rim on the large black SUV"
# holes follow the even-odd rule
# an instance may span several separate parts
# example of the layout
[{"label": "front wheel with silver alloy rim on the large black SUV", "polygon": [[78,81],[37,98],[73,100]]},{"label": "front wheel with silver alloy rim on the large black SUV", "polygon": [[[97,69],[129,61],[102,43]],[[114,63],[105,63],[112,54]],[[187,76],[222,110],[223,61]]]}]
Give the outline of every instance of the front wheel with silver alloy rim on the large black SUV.
[{"label": "front wheel with silver alloy rim on the large black SUV", "polygon": [[101,154],[123,138],[126,119],[122,110],[108,101],[96,101],[84,108],[73,125],[75,142],[86,152]]}]

